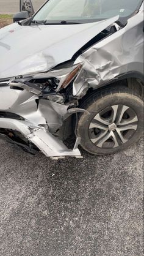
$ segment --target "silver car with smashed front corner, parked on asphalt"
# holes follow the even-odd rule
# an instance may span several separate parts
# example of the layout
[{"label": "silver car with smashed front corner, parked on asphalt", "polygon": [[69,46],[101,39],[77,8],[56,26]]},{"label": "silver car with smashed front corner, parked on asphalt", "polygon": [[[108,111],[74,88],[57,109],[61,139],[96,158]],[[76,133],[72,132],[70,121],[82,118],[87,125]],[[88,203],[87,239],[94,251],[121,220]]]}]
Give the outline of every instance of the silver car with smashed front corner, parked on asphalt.
[{"label": "silver car with smashed front corner, parked on asphalt", "polygon": [[0,29],[0,137],[53,159],[139,140],[143,1],[49,0],[34,13],[22,0],[21,10]]}]

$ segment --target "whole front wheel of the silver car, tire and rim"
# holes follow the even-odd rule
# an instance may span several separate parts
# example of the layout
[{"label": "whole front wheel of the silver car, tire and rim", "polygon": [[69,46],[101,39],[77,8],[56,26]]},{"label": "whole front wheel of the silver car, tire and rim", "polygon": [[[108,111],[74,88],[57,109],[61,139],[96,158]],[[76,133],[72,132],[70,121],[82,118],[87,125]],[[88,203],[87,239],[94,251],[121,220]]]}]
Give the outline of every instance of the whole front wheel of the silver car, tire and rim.
[{"label": "whole front wheel of the silver car, tire and rim", "polygon": [[143,100],[126,87],[90,94],[81,108],[77,136],[92,154],[113,154],[139,140],[143,134]]}]

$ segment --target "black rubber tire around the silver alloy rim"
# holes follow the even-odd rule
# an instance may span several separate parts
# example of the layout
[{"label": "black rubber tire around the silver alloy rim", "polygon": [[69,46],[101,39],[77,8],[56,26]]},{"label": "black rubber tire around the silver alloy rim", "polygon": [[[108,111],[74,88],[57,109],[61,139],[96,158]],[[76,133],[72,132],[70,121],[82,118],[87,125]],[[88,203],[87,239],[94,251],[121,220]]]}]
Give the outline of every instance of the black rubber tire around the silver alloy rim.
[{"label": "black rubber tire around the silver alloy rim", "polygon": [[[113,137],[112,137],[112,138],[109,138],[104,143],[102,142],[103,145],[109,145],[108,148],[107,146],[99,147],[99,144],[101,143],[96,141],[97,143],[96,144],[96,143],[93,143],[92,141],[95,141],[95,137],[96,137],[96,140],[98,140],[98,135],[102,134],[103,131],[100,130],[101,131],[100,133],[97,127],[93,128],[93,125],[92,125],[93,120],[94,118],[96,118],[96,120],[94,121],[96,121],[96,126],[97,126],[97,123],[99,123],[99,120],[97,120],[98,114],[103,113],[103,111],[108,110],[108,108],[112,108],[112,110],[110,111],[113,111],[115,106],[118,106],[117,109],[120,109],[120,108],[122,109],[124,108],[124,106],[129,107],[127,111],[131,110],[131,115],[137,116],[137,122],[132,123],[132,129],[123,131],[123,134],[125,133],[125,135],[121,137],[122,138],[126,137],[126,139],[124,139],[124,141],[126,142],[123,143],[122,142],[123,140],[117,134],[118,143],[116,141],[116,144],[115,144],[115,140],[113,142]],[[139,140],[139,138],[142,137],[143,135],[143,100],[140,98],[139,95],[135,95],[130,89],[124,86],[121,86],[121,87],[115,86],[113,88],[101,89],[101,91],[99,92],[93,91],[92,94],[85,97],[80,107],[84,108],[87,111],[85,111],[85,113],[79,116],[79,121],[77,124],[77,137],[81,137],[82,148],[84,148],[87,152],[90,152],[91,154],[97,154],[97,155],[114,154],[115,152],[128,148],[137,140]],[[107,113],[109,113],[109,115],[112,115],[110,114],[110,111],[109,112],[107,111]],[[125,116],[123,116],[123,119],[121,119],[122,124],[123,124],[123,120],[125,120],[124,118],[126,118],[127,123],[129,122],[129,120],[133,120],[132,118],[129,117],[130,114],[124,113],[124,115]],[[127,124],[127,126],[130,127],[129,124]],[[109,133],[112,132],[114,134],[117,133],[117,131],[115,130],[115,127],[113,127],[112,124],[110,124],[110,126],[107,126],[107,129],[110,129],[108,130],[108,132]],[[121,127],[121,124],[120,124],[120,127]],[[123,127],[124,127],[124,124],[123,124]],[[117,126],[117,129],[118,129],[118,126]],[[92,132],[95,136],[92,135]],[[92,136],[94,136],[94,139],[92,138]],[[114,145],[115,147],[113,146],[110,147],[110,145]]]}]

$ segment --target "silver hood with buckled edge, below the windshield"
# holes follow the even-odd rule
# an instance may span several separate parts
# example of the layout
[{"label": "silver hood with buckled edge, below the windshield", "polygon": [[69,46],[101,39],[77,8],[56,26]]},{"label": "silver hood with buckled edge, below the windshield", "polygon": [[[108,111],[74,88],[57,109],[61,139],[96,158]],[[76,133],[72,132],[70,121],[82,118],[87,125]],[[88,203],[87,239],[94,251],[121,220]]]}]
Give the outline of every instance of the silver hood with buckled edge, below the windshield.
[{"label": "silver hood with buckled edge, below the windshield", "polygon": [[46,72],[64,61],[89,40],[118,20],[96,23],[20,26],[0,29],[0,79]]}]

